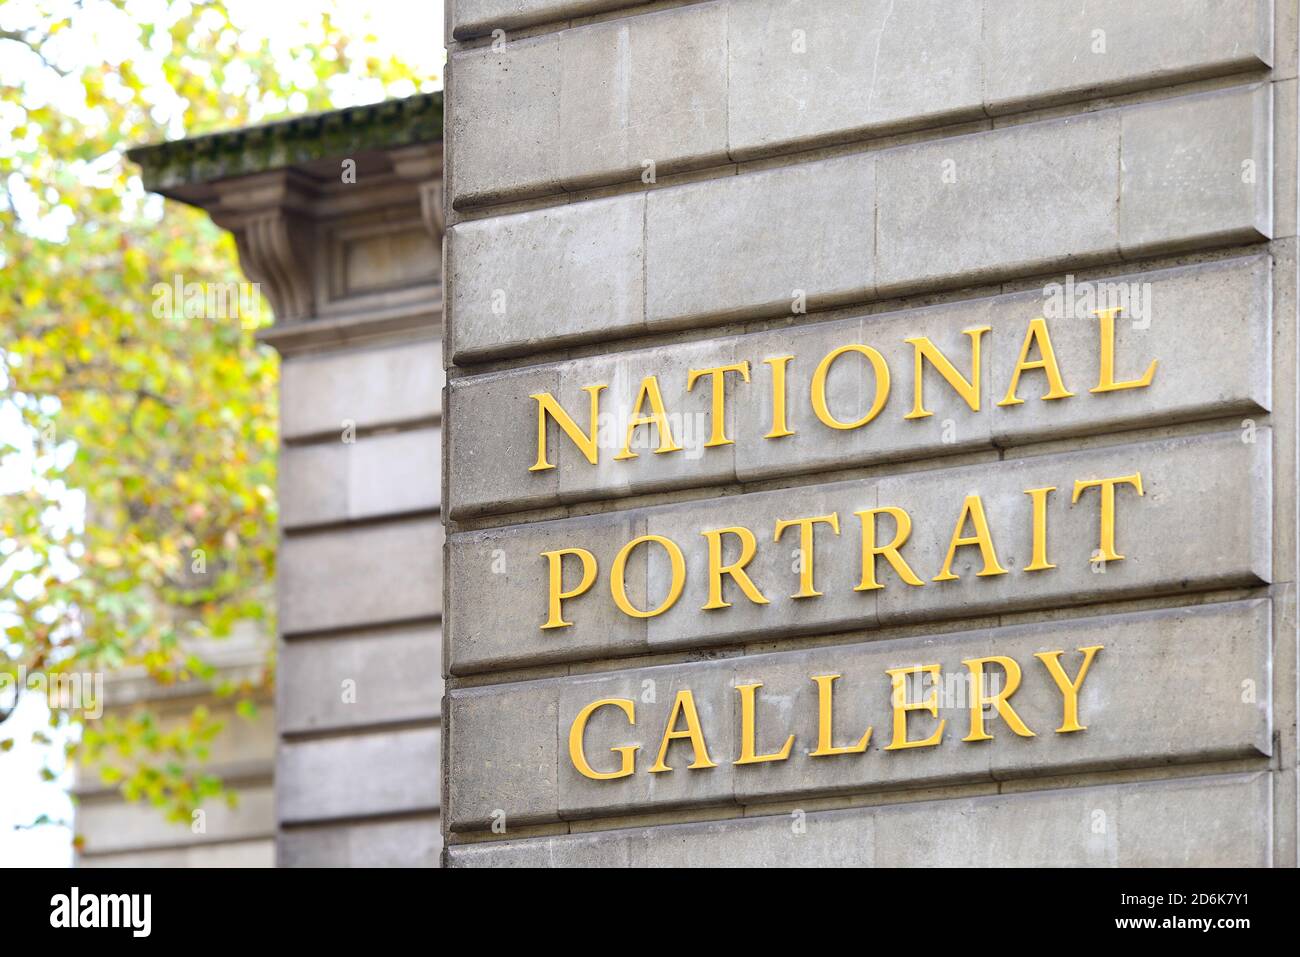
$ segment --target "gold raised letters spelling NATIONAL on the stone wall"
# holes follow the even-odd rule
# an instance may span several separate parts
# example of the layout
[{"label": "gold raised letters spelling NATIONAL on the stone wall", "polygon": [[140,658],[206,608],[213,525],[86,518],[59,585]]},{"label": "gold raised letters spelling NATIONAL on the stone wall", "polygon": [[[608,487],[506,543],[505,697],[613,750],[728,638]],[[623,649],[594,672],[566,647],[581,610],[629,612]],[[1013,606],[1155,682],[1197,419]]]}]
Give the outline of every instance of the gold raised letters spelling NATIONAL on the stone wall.
[{"label": "gold raised letters spelling NATIONAL on the stone wall", "polygon": [[[1096,312],[1097,324],[1097,356],[1098,373],[1097,382],[1089,394],[1105,394],[1123,391],[1127,389],[1145,389],[1156,377],[1158,359],[1150,360],[1145,371],[1136,378],[1118,378],[1115,359],[1115,317],[1121,308],[1110,308]],[[1076,320],[1071,320],[1076,321]],[[966,403],[971,412],[979,412],[983,391],[980,381],[983,376],[984,360],[982,358],[982,342],[985,333],[992,332],[992,326],[980,325],[962,330],[970,339],[970,358],[966,363],[968,372],[963,373],[957,364],[949,359],[939,347],[926,337],[904,339],[913,348],[913,398],[911,408],[902,416],[905,420],[927,419],[933,415],[926,407],[924,395],[924,369],[927,363],[944,378],[944,381]],[[798,361],[797,356],[780,355],[763,359],[762,364],[768,367],[764,376],[767,390],[767,407],[771,410],[768,424],[771,428],[763,439],[776,441],[796,434],[790,428],[790,394],[786,385],[788,372],[792,364]],[[857,361],[862,364],[863,373],[870,374],[875,382],[874,394],[870,397],[870,406],[866,410],[853,410],[852,416],[841,417],[829,406],[827,398],[827,380],[831,369],[841,361]],[[870,373],[867,372],[870,369]],[[1022,406],[1026,399],[1020,398],[1022,376],[1024,373],[1041,373],[1045,389],[1039,395],[1043,402],[1058,402],[1075,395],[1066,387],[1066,380],[1057,360],[1056,348],[1052,345],[1052,334],[1048,320],[1034,319],[1028,322],[1024,338],[1020,345],[1019,356],[1011,373],[1008,377],[1006,391],[998,400],[1000,407]],[[728,380],[728,376],[733,378]],[[694,391],[696,386],[710,389],[710,428],[708,439],[703,449],[716,449],[719,446],[734,445],[736,439],[727,434],[727,386],[728,382],[749,384],[757,378],[757,369],[751,368],[749,360],[731,363],[727,365],[714,365],[708,368],[689,369],[686,372],[685,390]],[[885,356],[875,347],[850,342],[831,350],[822,356],[812,371],[809,387],[807,402],[820,425],[840,432],[862,429],[875,421],[889,402],[893,373]],[[578,425],[577,420],[566,410],[551,393],[536,393],[529,395],[537,403],[537,459],[529,465],[529,472],[546,472],[555,468],[555,463],[547,456],[547,438],[550,423],[554,421],[560,432],[578,449],[582,458],[592,465],[598,465],[601,460],[601,446],[614,445],[601,441],[601,395],[608,389],[606,384],[593,384],[582,386],[582,391],[589,399],[589,420],[586,430]],[[868,390],[871,391],[871,390]],[[632,402],[632,412],[627,419],[625,437],[621,447],[614,454],[615,462],[629,462],[640,458],[638,447],[647,447],[638,441],[638,429],[645,426],[647,432],[654,430],[658,445],[655,455],[681,452],[684,446],[679,441],[680,434],[673,433],[672,423],[676,413],[670,413],[668,403],[664,402],[663,389],[658,376],[646,376],[637,386],[636,397]],[[680,419],[679,419],[680,421]]]}]

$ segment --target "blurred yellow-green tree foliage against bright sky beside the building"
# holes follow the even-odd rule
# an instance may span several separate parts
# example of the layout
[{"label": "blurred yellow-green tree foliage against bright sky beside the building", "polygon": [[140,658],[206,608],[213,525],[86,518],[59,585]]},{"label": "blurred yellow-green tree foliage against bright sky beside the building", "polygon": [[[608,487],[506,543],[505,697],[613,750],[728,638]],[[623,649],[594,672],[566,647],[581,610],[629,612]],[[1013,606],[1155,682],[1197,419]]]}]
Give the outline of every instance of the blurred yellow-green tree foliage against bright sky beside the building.
[{"label": "blurred yellow-green tree foliage against bright sky beside the building", "polygon": [[[274,631],[276,356],[247,317],[155,308],[177,276],[242,276],[230,238],[181,204],[164,217],[124,151],[410,95],[432,78],[378,55],[373,35],[344,35],[328,4],[289,35],[251,29],[234,7],[0,8],[0,411],[25,425],[22,442],[0,432],[0,468],[21,458],[31,472],[0,501],[10,675],[208,679],[188,638],[240,620]],[[256,684],[220,692],[247,713]],[[204,709],[164,726],[64,703],[51,724],[81,726],[58,736],[66,758],[126,797],[178,820],[233,797],[203,771],[220,729]],[[0,748],[12,744],[0,723]]]}]

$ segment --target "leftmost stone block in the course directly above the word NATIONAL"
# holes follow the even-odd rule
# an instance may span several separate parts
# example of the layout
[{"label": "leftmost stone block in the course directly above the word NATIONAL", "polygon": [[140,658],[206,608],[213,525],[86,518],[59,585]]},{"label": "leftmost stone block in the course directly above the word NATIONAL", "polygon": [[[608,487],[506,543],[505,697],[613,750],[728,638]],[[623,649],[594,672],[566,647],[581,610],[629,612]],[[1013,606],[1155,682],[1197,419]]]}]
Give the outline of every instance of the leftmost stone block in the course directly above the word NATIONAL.
[{"label": "leftmost stone block in the course directly above the word NATIONAL", "polygon": [[644,231],[645,196],[452,226],[452,355],[463,361],[642,328]]}]

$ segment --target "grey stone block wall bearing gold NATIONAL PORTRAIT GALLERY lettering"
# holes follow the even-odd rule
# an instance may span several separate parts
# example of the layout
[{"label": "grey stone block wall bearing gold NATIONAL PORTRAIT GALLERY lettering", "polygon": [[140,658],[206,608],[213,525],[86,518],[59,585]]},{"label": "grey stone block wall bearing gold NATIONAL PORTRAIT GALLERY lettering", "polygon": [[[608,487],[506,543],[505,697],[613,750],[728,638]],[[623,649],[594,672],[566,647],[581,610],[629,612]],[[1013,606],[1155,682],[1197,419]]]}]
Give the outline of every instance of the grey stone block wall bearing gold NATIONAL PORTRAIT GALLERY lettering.
[{"label": "grey stone block wall bearing gold NATIONAL PORTRAIT GALLERY lettering", "polygon": [[1295,0],[450,0],[446,857],[1296,863]]}]

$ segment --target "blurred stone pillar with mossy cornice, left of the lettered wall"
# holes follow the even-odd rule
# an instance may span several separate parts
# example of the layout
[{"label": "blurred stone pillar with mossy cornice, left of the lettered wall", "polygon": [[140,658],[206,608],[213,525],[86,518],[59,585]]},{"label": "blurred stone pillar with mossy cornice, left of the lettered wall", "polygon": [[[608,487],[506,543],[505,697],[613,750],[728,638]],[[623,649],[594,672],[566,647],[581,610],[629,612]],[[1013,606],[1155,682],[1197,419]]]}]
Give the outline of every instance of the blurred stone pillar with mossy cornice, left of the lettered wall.
[{"label": "blurred stone pillar with mossy cornice, left of the lettered wall", "polygon": [[437,866],[441,94],[131,159],[234,234],[274,309],[276,863]]}]

